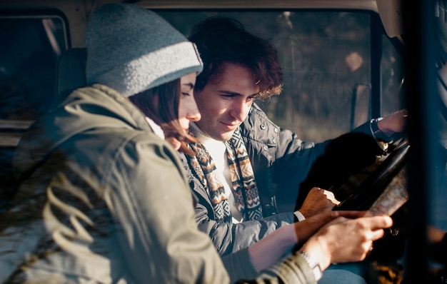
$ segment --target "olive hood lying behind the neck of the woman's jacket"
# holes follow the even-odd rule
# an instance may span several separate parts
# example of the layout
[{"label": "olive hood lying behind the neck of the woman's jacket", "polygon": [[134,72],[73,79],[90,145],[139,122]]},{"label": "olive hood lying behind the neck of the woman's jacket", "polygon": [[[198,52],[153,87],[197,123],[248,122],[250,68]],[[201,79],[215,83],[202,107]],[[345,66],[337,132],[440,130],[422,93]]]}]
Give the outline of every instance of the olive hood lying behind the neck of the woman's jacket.
[{"label": "olive hood lying behind the neck of the woman's jacket", "polygon": [[144,114],[120,93],[101,84],[79,88],[22,136],[14,153],[14,176],[20,180],[62,143],[93,127],[151,131]]}]

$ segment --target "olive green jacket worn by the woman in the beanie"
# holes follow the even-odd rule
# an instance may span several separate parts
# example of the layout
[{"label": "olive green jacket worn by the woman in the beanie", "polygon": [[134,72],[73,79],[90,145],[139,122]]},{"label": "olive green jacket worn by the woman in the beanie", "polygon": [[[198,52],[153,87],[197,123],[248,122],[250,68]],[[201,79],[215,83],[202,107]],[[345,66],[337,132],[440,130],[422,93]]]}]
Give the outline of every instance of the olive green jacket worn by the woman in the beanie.
[{"label": "olive green jacket worn by the woman in the beanie", "polygon": [[[71,93],[29,128],[13,163],[1,282],[230,283],[226,269],[249,263],[241,250],[224,266],[197,228],[178,153],[111,88]],[[253,281],[313,280],[291,260]]]}]

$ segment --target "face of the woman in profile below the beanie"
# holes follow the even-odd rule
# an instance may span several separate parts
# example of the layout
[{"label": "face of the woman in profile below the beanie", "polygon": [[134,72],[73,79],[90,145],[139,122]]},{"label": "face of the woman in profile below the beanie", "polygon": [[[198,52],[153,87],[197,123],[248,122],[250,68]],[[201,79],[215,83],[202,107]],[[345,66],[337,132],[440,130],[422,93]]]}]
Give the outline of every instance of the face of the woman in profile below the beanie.
[{"label": "face of the woman in profile below the beanie", "polygon": [[[197,108],[196,100],[194,99],[196,76],[196,72],[193,72],[180,78],[179,123],[184,131],[188,131],[190,121],[199,121],[201,118],[199,108]],[[176,142],[174,148],[179,150],[179,141]]]}]

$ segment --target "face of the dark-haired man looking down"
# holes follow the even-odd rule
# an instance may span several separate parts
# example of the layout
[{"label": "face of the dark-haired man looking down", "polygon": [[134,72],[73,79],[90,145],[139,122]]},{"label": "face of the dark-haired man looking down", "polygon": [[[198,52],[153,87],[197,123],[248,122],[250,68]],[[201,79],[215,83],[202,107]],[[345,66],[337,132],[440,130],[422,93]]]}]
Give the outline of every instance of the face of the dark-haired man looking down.
[{"label": "face of the dark-haired man looking down", "polygon": [[201,113],[197,125],[211,138],[227,141],[248,116],[259,87],[245,67],[232,63],[222,67],[223,75],[208,81],[195,97]]}]

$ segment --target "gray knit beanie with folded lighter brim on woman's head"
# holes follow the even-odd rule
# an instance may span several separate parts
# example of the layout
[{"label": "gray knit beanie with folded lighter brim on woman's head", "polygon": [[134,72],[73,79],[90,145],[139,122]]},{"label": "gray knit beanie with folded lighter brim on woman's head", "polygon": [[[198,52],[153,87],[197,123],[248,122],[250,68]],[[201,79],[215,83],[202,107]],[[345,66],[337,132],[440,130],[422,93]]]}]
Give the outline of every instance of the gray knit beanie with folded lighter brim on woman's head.
[{"label": "gray knit beanie with folded lighter brim on woman's head", "polygon": [[203,69],[191,41],[134,4],[96,9],[85,35],[87,83],[102,83],[126,97]]}]

